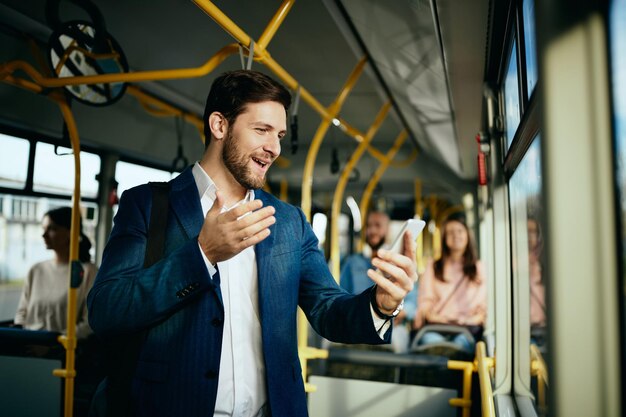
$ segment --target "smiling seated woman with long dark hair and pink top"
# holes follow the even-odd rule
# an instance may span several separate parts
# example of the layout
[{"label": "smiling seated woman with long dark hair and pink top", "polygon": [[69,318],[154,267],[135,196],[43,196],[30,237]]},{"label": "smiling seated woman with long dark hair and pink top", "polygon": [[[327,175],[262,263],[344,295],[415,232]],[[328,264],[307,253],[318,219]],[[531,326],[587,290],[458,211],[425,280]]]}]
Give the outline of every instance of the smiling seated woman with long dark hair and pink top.
[{"label": "smiling seated woman with long dark hair and pink top", "polygon": [[[470,237],[460,217],[443,224],[442,254],[429,262],[419,281],[415,328],[426,324],[452,324],[480,333],[487,315],[486,276]],[[476,332],[476,329],[480,331]],[[438,332],[422,335],[419,345],[454,342],[473,352],[471,340],[463,333],[447,336]]]}]

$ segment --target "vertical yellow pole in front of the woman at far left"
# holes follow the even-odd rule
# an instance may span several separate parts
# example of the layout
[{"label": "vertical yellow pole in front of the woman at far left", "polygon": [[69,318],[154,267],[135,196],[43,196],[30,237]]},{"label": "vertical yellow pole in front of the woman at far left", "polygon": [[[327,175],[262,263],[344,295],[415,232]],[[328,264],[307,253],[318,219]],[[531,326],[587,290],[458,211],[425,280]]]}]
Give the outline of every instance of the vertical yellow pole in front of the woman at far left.
[{"label": "vertical yellow pole in front of the woman at far left", "polygon": [[67,295],[67,334],[59,336],[59,342],[65,348],[65,369],[55,369],[52,373],[65,378],[65,417],[72,417],[74,412],[74,378],[76,378],[76,291],[72,282],[72,264],[78,261],[80,231],[80,141],[72,110],[66,102],[57,100],[67,125],[72,151],[74,154],[74,195],[72,198],[72,227],[70,231],[70,276],[68,277]]}]

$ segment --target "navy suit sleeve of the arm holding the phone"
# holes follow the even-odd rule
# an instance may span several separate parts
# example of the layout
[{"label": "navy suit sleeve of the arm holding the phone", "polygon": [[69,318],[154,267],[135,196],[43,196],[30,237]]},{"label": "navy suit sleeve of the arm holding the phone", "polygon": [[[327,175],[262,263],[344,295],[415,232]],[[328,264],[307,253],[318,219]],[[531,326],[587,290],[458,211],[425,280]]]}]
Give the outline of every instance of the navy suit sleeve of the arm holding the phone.
[{"label": "navy suit sleeve of the arm holding the phone", "polygon": [[358,295],[346,292],[328,270],[318,240],[298,210],[302,236],[299,304],[311,326],[321,336],[339,343],[389,343],[391,332],[381,339],[372,320],[368,288]]}]

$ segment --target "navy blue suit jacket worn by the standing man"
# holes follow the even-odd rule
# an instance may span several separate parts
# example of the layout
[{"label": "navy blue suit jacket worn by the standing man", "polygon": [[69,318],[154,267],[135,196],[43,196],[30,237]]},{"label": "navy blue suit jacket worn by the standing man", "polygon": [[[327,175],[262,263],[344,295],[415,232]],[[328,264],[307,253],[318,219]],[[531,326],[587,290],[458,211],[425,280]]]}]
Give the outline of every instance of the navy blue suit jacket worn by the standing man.
[{"label": "navy blue suit jacket worn by the standing man", "polygon": [[[306,416],[298,305],[329,340],[383,341],[369,291],[351,295],[335,283],[302,211],[262,190],[255,196],[276,209],[271,234],[255,246],[268,401],[274,417]],[[151,205],[148,185],[122,195],[88,297],[89,323],[104,339],[149,329],[132,382],[136,415],[212,416],[224,309],[198,247],[204,218],[191,169],[171,181],[164,258],[143,268]]]}]

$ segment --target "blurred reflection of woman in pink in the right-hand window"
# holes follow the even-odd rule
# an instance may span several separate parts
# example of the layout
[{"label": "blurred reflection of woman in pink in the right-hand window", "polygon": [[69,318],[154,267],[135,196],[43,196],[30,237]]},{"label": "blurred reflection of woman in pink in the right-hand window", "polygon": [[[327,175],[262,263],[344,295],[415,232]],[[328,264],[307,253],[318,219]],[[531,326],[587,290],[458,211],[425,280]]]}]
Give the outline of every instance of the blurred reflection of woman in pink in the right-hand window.
[{"label": "blurred reflection of woman in pink in the right-hand window", "polygon": [[529,217],[528,226],[528,273],[530,278],[530,334],[537,345],[544,342],[546,327],[545,287],[541,277],[541,252],[543,237],[539,222]]}]

